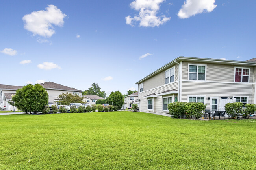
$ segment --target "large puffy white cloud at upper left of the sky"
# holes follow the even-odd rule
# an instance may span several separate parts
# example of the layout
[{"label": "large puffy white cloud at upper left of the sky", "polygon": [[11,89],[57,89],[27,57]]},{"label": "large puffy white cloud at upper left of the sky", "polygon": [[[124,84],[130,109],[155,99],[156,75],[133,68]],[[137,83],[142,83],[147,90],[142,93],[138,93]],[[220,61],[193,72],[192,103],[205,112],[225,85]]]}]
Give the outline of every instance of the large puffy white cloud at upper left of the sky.
[{"label": "large puffy white cloud at upper left of the sky", "polygon": [[33,35],[51,37],[55,33],[52,24],[62,27],[64,24],[63,19],[66,16],[56,6],[48,5],[45,11],[34,11],[24,15],[22,20],[24,22],[24,29],[32,32]]}]

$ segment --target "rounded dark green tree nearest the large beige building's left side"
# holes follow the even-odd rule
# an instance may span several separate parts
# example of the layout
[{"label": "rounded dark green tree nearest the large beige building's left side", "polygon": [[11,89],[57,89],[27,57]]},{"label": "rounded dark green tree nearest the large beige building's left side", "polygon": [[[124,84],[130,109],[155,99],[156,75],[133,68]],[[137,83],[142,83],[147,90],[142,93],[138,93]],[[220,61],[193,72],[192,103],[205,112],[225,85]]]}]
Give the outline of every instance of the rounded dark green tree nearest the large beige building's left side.
[{"label": "rounded dark green tree nearest the large beige building's left side", "polygon": [[113,103],[114,106],[117,106],[118,109],[121,109],[122,106],[124,105],[124,96],[120,91],[116,91],[116,92],[112,91],[109,97],[106,98],[106,103],[110,105]]}]

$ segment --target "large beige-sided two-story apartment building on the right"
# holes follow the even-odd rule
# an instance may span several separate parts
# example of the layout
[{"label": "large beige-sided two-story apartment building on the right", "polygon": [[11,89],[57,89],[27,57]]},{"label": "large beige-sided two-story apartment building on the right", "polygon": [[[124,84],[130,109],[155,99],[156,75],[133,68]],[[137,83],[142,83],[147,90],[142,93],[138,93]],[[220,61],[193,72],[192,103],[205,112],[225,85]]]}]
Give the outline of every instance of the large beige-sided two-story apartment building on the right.
[{"label": "large beige-sided two-story apartment building on the right", "polygon": [[178,57],[138,85],[139,111],[169,113],[171,102],[202,102],[224,110],[228,102],[256,104],[256,62]]}]

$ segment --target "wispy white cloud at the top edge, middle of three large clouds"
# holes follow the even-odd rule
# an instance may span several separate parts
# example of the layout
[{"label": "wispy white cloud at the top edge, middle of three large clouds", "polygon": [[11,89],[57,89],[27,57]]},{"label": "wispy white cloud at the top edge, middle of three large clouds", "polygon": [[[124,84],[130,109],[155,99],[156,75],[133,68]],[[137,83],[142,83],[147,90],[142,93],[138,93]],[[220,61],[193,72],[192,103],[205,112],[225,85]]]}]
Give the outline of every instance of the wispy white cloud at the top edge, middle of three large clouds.
[{"label": "wispy white cloud at the top edge, middle of three large clouds", "polygon": [[165,0],[135,0],[130,4],[132,9],[139,11],[138,15],[132,18],[130,15],[126,16],[126,24],[134,26],[134,22],[139,22],[139,26],[143,27],[155,27],[164,24],[169,21],[171,17],[166,17],[165,15],[156,16],[160,4],[165,2]]}]

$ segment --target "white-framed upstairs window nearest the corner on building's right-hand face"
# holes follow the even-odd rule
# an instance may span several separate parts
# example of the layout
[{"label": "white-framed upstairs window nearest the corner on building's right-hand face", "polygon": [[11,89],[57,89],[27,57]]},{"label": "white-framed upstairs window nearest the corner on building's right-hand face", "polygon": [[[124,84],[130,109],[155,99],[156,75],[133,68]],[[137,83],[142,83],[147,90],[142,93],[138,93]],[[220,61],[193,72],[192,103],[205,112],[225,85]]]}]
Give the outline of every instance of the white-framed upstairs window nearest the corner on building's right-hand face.
[{"label": "white-framed upstairs window nearest the corner on building's right-hand face", "polygon": [[205,80],[206,66],[189,65],[189,80]]}]

